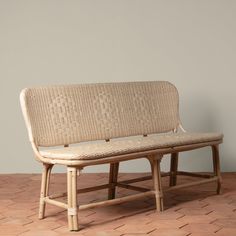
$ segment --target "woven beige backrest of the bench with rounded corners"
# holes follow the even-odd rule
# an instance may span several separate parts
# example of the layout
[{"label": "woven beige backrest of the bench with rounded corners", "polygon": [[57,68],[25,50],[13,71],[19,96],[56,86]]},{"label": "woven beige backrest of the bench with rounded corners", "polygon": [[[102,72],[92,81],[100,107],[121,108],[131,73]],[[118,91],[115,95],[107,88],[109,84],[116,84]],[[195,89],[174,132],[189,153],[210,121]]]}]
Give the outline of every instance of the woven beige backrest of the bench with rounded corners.
[{"label": "woven beige backrest of the bench with rounded corners", "polygon": [[28,88],[21,106],[39,146],[166,132],[179,120],[178,92],[161,81]]}]

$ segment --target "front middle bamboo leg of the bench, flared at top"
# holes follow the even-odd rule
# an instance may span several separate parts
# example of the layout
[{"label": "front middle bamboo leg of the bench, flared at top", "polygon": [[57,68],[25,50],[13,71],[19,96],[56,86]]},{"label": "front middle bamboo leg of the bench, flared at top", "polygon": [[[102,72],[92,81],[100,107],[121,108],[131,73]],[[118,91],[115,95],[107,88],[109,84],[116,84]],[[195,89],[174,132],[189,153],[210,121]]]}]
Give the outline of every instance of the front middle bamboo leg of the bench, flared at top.
[{"label": "front middle bamboo leg of the bench, flared at top", "polygon": [[152,168],[152,176],[153,176],[153,187],[155,191],[156,197],[156,210],[157,212],[163,211],[163,193],[161,186],[161,170],[160,170],[160,162],[161,158],[158,156],[149,158],[151,168]]}]

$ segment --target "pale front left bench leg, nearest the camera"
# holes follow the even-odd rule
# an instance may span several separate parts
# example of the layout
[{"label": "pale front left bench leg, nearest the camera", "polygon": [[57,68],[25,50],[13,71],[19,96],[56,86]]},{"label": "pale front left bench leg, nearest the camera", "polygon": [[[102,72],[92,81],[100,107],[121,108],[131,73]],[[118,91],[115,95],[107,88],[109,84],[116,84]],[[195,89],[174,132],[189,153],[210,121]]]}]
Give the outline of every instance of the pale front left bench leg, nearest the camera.
[{"label": "pale front left bench leg, nearest the camera", "polygon": [[69,230],[79,230],[77,205],[77,169],[67,167],[67,204]]}]

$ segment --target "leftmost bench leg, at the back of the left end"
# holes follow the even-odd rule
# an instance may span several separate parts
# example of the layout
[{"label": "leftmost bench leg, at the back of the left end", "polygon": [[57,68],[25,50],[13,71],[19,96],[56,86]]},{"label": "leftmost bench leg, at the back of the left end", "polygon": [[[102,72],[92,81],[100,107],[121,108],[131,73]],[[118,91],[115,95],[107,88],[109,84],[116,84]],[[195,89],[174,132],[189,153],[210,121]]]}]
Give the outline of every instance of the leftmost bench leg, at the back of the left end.
[{"label": "leftmost bench leg, at the back of the left end", "polygon": [[45,216],[45,201],[44,198],[48,196],[50,175],[53,165],[43,164],[43,173],[41,181],[40,201],[39,201],[39,219]]}]

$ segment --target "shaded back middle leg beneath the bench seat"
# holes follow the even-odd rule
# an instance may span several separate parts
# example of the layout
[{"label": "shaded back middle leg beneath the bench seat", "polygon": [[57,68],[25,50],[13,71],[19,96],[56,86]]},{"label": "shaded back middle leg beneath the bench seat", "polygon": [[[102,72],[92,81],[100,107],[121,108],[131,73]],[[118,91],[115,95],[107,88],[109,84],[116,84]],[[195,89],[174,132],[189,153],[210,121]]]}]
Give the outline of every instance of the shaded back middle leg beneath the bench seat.
[{"label": "shaded back middle leg beneath the bench seat", "polygon": [[116,195],[116,183],[119,173],[119,162],[110,164],[108,199],[114,199]]}]

